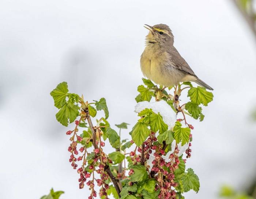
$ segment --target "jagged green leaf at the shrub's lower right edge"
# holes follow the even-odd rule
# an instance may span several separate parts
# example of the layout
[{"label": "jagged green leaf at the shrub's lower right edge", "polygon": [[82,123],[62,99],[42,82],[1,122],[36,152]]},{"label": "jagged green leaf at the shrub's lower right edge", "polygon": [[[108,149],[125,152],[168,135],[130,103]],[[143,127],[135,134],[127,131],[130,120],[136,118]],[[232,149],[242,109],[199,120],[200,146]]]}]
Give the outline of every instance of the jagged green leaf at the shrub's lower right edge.
[{"label": "jagged green leaf at the shrub's lower right edge", "polygon": [[181,183],[182,183],[184,192],[188,192],[191,189],[194,190],[195,192],[199,191],[199,187],[200,187],[199,178],[191,168],[187,169],[187,172],[185,172],[182,175]]}]

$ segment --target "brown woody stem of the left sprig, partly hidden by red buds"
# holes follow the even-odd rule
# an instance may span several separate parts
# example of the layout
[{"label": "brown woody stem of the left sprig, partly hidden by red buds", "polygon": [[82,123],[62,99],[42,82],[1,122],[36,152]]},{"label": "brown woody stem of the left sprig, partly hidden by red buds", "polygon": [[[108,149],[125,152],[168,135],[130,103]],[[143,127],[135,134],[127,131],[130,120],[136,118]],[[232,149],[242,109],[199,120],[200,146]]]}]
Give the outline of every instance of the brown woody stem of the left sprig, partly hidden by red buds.
[{"label": "brown woody stem of the left sprig, partly hidden by red buds", "polygon": [[[87,119],[88,124],[89,124],[89,126],[90,126],[90,128],[91,128],[91,132],[92,132],[92,136],[93,136],[93,147],[94,147],[95,149],[98,149],[99,147],[98,147],[98,145],[96,144],[96,134],[95,134],[96,129],[95,129],[94,126],[93,126],[93,122],[91,122],[91,117],[90,117],[90,113],[89,113],[88,108],[84,109],[84,112],[86,112],[86,119]],[[118,182],[117,182],[116,177],[115,177],[115,176],[113,175],[113,173],[110,171],[109,165],[107,165],[107,164],[105,165],[104,171],[105,171],[106,173],[108,173],[108,175],[109,175],[109,177],[110,177],[110,179],[111,179],[111,181],[112,181],[114,187],[116,188],[116,191],[117,191],[117,194],[118,194],[119,198],[121,198],[121,196],[120,196],[120,192],[121,192],[121,191],[120,191],[120,187],[118,186]]]}]

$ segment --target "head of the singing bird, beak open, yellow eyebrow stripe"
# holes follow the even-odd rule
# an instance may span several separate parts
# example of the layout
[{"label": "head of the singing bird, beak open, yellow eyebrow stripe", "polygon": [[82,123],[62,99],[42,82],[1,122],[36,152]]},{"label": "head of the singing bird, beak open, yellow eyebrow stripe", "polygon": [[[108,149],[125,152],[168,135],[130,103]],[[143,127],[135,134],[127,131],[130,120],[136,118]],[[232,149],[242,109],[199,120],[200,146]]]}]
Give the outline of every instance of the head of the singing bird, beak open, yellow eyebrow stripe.
[{"label": "head of the singing bird, beak open, yellow eyebrow stripe", "polygon": [[147,44],[173,45],[174,37],[169,26],[165,24],[157,24],[155,26],[144,26],[150,32],[146,36]]}]

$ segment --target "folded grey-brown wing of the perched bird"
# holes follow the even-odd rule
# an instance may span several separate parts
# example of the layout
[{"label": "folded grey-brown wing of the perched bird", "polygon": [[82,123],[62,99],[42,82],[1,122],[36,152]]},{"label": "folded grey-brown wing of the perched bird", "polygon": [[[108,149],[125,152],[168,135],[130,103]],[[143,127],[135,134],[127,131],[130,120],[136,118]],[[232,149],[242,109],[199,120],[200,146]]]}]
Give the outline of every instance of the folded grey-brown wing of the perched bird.
[{"label": "folded grey-brown wing of the perched bird", "polygon": [[188,65],[188,63],[185,61],[185,59],[182,58],[180,53],[177,51],[175,47],[173,47],[170,51],[171,59],[174,64],[174,67],[177,67],[177,69],[183,71],[184,73],[187,73],[189,75],[193,75],[196,77],[196,74],[191,69],[191,67]]}]

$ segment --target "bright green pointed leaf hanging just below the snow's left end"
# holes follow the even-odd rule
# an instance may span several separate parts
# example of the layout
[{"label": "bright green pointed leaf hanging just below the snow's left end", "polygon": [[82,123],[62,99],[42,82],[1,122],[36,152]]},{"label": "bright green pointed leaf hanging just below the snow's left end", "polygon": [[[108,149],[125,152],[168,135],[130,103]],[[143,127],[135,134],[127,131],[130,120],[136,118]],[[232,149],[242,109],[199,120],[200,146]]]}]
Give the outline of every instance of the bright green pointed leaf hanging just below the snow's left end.
[{"label": "bright green pointed leaf hanging just below the snow's left end", "polygon": [[137,122],[131,132],[132,140],[138,147],[142,145],[149,134],[150,130],[147,128],[147,125],[142,122]]}]

